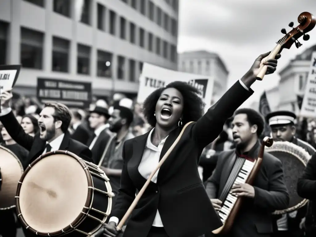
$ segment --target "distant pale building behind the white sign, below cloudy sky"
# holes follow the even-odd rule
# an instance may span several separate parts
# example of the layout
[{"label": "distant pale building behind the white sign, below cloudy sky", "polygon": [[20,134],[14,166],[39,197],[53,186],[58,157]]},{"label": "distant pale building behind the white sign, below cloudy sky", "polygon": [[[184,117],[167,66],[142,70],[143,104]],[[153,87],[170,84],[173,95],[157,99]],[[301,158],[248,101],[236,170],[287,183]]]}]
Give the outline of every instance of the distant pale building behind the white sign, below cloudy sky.
[{"label": "distant pale building behind the white sign, below cloudy sky", "polygon": [[214,78],[212,104],[227,90],[228,70],[222,59],[207,51],[190,51],[179,54],[178,70]]}]

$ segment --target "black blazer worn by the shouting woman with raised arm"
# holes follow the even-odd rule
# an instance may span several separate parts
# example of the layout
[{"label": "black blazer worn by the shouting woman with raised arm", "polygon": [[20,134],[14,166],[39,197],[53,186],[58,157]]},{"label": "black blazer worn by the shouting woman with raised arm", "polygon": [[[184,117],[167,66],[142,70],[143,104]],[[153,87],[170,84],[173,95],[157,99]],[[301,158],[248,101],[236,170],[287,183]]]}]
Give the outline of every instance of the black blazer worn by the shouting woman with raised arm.
[{"label": "black blazer worn by the shouting woman with raised arm", "polygon": [[[159,210],[168,236],[197,237],[222,226],[198,173],[199,157],[206,145],[222,131],[234,111],[252,94],[236,82],[218,102],[183,133],[161,166],[157,183],[148,188],[133,210],[124,237],[146,237]],[[170,132],[160,159],[181,132]],[[127,140],[123,148],[121,186],[112,215],[122,219],[146,179],[138,172],[149,132]]]}]

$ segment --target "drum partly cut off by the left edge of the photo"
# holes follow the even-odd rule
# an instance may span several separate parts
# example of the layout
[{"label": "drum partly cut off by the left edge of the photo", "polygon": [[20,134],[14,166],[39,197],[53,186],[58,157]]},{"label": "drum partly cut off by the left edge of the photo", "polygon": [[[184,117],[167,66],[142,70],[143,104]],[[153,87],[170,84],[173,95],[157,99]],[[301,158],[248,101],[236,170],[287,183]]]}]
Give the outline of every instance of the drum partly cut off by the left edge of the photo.
[{"label": "drum partly cut off by the left edge of the photo", "polygon": [[16,187],[23,174],[23,166],[9,149],[0,146],[0,211],[15,207]]}]

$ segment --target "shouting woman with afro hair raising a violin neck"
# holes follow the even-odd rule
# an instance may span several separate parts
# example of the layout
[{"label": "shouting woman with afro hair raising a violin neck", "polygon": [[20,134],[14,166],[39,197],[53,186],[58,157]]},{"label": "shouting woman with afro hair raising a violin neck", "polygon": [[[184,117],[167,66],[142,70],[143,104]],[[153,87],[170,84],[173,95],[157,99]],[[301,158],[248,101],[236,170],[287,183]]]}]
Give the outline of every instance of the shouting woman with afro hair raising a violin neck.
[{"label": "shouting woman with afro hair raising a violin neck", "polygon": [[[199,157],[223,129],[234,111],[253,93],[257,69],[268,53],[260,55],[251,69],[236,82],[203,116],[204,103],[198,90],[184,82],[159,88],[144,102],[144,115],[154,128],[127,140],[123,148],[124,165],[115,207],[103,236],[118,234],[116,226],[152,170],[191,123],[167,160],[162,164],[131,214],[124,237],[198,237],[222,226],[198,173]],[[276,59],[281,55],[277,55]],[[270,59],[266,74],[276,70]]]}]

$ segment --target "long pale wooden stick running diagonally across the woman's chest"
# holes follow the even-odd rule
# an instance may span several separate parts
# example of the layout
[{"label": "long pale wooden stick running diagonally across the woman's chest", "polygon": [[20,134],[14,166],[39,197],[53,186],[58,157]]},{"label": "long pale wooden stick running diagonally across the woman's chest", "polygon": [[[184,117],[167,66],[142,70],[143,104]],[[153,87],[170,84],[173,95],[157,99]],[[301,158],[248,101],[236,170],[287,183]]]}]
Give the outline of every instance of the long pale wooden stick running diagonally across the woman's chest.
[{"label": "long pale wooden stick running diagonally across the woman's chest", "polygon": [[162,157],[161,161],[158,163],[157,167],[151,172],[149,178],[147,179],[146,183],[144,184],[144,186],[142,187],[142,189],[139,191],[139,193],[137,194],[137,196],[135,197],[134,201],[132,202],[131,206],[129,207],[129,209],[126,211],[125,215],[123,216],[122,220],[119,222],[118,226],[116,227],[117,231],[120,231],[122,229],[122,227],[124,226],[124,223],[126,222],[127,218],[131,215],[132,211],[134,210],[134,208],[136,207],[139,199],[142,197],[143,193],[145,192],[146,188],[148,187],[151,179],[153,178],[153,176],[155,175],[155,173],[157,172],[157,170],[161,167],[161,165],[163,164],[163,162],[165,162],[165,160],[167,159],[168,155],[172,152],[173,148],[177,145],[177,143],[179,142],[185,128],[191,124],[193,122],[189,122],[187,123],[182,131],[180,132],[179,136],[177,137],[177,139],[174,141],[174,143],[172,144],[172,146],[167,150],[166,154]]}]

